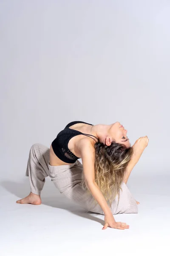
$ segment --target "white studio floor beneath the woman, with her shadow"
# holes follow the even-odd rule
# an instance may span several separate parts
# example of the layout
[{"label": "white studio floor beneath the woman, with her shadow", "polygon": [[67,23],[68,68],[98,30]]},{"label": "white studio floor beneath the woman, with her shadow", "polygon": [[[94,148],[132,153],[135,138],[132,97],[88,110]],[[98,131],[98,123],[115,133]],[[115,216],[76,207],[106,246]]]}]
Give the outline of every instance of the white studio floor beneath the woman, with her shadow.
[{"label": "white studio floor beneath the woman, with her shadow", "polygon": [[30,192],[28,177],[0,183],[0,255],[170,255],[170,176],[131,174],[127,186],[137,214],[114,215],[128,230],[102,230],[104,215],[61,195],[46,178],[41,205],[17,204]]}]

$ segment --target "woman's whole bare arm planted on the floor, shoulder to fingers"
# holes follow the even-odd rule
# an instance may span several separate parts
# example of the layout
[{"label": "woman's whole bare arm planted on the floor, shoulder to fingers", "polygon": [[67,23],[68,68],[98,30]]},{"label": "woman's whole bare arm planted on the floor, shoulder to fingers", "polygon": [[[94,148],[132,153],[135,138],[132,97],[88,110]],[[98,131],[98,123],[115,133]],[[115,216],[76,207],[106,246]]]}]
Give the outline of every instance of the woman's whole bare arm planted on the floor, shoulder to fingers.
[{"label": "woman's whole bare arm planted on the floor, shoulder to fingers", "polygon": [[116,229],[125,229],[129,228],[129,225],[122,222],[116,222],[111,209],[109,208],[105,197],[99,189],[99,186],[95,182],[95,149],[94,145],[89,140],[82,140],[79,145],[79,152],[82,158],[83,173],[85,177],[85,183],[94,199],[98,202],[103,212],[105,213],[105,225],[103,229],[106,229],[108,226]]}]

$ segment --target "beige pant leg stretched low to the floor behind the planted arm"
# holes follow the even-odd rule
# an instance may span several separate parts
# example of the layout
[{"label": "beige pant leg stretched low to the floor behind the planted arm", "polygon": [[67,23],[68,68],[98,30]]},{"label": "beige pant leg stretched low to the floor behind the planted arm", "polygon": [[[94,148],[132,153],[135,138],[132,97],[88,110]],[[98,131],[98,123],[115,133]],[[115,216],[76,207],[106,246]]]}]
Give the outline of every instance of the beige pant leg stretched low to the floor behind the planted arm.
[{"label": "beige pant leg stretched low to the floor behind the planted arm", "polygon": [[[60,193],[66,195],[71,201],[81,205],[87,211],[96,212],[104,215],[104,212],[100,205],[96,202],[94,206],[94,198],[89,193],[85,194],[85,191],[80,186],[82,180],[82,164],[77,160],[70,166],[50,166],[49,172],[51,180],[54,185],[59,189]],[[122,190],[120,190],[120,198],[118,203],[118,196],[111,205],[111,212],[113,215],[119,213],[137,213],[138,205],[133,198],[129,189],[125,183],[122,183]]]}]

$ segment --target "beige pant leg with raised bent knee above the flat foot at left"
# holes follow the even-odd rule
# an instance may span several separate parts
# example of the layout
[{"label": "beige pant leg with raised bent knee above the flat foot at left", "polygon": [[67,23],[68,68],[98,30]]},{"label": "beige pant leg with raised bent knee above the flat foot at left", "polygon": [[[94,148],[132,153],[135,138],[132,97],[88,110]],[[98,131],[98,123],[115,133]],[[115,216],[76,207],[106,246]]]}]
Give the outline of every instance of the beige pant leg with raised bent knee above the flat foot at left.
[{"label": "beige pant leg with raised bent knee above the flat foot at left", "polygon": [[31,146],[26,175],[29,177],[31,192],[40,195],[45,183],[45,177],[49,176],[50,148],[36,143]]}]

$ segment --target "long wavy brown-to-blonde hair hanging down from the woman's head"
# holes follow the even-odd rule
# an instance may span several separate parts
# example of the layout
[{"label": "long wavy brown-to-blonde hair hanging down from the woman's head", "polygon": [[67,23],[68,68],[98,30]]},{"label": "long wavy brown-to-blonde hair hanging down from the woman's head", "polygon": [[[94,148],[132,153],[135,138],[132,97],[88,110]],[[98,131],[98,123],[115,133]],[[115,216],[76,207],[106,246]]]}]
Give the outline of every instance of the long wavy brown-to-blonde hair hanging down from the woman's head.
[{"label": "long wavy brown-to-blonde hair hanging down from the woman's head", "polygon": [[[115,141],[112,141],[110,146],[96,142],[94,148],[95,182],[111,207],[116,195],[118,195],[119,203],[119,190],[122,190],[121,184],[125,178],[126,167],[133,154],[133,148],[127,148],[124,144]],[[85,190],[84,196],[91,194],[86,186],[83,172],[80,185]],[[92,206],[94,202],[97,204],[97,201],[93,198]]]}]

